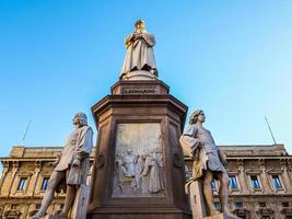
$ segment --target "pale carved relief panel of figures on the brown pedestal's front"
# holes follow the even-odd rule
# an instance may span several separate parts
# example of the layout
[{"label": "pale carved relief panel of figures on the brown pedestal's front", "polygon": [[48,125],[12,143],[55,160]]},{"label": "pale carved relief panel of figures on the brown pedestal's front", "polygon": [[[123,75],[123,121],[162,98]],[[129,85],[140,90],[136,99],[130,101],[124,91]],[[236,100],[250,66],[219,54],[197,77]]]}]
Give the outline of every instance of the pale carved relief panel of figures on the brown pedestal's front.
[{"label": "pale carved relief panel of figures on the brown pedestal's front", "polygon": [[113,197],[164,196],[159,123],[118,124]]}]

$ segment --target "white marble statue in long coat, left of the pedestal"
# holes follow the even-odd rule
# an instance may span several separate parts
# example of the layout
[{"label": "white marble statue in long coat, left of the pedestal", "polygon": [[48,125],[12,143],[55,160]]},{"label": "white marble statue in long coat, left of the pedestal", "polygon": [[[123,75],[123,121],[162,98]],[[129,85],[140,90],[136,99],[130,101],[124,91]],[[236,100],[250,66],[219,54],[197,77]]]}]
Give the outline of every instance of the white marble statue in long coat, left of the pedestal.
[{"label": "white marble statue in long coat, left of the pedestal", "polygon": [[89,186],[86,184],[90,165],[90,153],[93,147],[93,131],[87,126],[87,118],[84,113],[74,115],[73,130],[56,161],[56,168],[48,181],[38,212],[31,219],[40,219],[46,216],[46,210],[54,198],[55,192],[61,188],[67,191],[65,207],[58,216],[46,216],[46,218],[69,218],[85,219],[89,199]]}]

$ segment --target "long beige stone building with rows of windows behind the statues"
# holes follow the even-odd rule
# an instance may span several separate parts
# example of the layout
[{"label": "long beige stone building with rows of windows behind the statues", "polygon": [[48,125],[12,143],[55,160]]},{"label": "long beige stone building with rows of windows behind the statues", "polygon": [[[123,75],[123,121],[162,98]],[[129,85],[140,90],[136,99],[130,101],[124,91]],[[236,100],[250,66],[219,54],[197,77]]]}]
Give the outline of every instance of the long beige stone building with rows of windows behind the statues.
[{"label": "long beige stone building with rows of windows behind the statues", "polygon": [[[0,181],[0,218],[26,219],[40,206],[52,162],[62,148],[13,147],[2,158]],[[234,214],[245,219],[292,219],[292,155],[283,145],[221,147],[227,155],[230,205]],[[93,154],[91,162],[93,162]],[[188,170],[191,160],[185,159]],[[89,175],[90,181],[91,175]],[[212,183],[218,200],[218,185]],[[56,194],[48,211],[63,206],[65,194]]]}]

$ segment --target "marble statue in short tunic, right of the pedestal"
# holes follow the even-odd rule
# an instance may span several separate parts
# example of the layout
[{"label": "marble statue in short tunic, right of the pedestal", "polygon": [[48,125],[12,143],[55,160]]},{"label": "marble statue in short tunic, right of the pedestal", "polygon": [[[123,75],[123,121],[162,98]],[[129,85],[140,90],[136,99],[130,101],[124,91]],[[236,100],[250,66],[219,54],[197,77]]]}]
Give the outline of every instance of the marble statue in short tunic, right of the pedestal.
[{"label": "marble statue in short tunic, right of the pedestal", "polygon": [[[189,127],[182,135],[179,141],[185,152],[194,159],[192,177],[186,184],[186,191],[190,194],[190,203],[194,219],[234,219],[227,207],[229,176],[223,164],[225,155],[217,147],[211,132],[206,129],[203,111],[195,111],[189,119]],[[212,180],[220,182],[219,197],[221,211],[213,204],[211,188]],[[209,216],[209,217],[208,217]]]}]

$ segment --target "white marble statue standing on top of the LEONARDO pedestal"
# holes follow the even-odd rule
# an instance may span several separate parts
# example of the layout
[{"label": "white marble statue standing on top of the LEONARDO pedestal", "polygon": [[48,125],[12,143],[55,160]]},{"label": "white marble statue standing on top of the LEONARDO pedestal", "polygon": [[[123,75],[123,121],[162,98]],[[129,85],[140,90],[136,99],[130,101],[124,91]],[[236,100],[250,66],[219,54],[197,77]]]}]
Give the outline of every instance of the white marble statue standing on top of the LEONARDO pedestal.
[{"label": "white marble statue standing on top of the LEONARDO pedestal", "polygon": [[127,79],[137,74],[155,78],[157,76],[153,53],[155,38],[154,35],[147,32],[142,20],[135,23],[135,32],[126,37],[125,43],[127,53],[119,78]]}]

